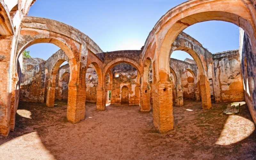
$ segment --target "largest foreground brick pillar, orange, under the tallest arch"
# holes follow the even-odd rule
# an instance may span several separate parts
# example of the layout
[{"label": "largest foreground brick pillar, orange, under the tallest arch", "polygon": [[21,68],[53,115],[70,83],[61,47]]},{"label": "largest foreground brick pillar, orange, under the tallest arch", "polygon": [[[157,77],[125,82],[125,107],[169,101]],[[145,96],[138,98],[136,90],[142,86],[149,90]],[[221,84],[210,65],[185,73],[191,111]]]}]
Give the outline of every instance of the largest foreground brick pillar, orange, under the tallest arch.
[{"label": "largest foreground brick pillar, orange, under the tallest arch", "polygon": [[153,123],[160,133],[173,129],[172,84],[153,84]]}]

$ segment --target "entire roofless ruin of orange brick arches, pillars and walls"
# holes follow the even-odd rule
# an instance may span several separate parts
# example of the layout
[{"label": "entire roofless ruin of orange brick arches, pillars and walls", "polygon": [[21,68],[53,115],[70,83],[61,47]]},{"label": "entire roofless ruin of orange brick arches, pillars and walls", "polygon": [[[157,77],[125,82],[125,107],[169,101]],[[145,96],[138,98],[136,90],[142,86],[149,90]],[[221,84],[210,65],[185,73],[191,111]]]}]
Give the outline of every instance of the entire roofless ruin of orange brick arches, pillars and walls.
[{"label": "entire roofless ruin of orange brick arches, pillars and walls", "polygon": [[[153,110],[153,124],[162,133],[173,129],[173,106],[183,106],[183,99],[202,101],[203,109],[245,100],[256,123],[256,1],[185,2],[160,18],[141,50],[114,52],[103,52],[67,24],[26,16],[34,2],[0,2],[0,135],[14,131],[19,101],[54,107],[54,100],[67,100],[71,123],[86,118],[87,102],[96,102],[100,111],[109,103],[140,105],[141,112]],[[208,20],[239,26],[239,50],[213,54],[182,32]],[[61,50],[48,60],[22,57],[38,43]],[[177,50],[194,60],[170,58]]]}]

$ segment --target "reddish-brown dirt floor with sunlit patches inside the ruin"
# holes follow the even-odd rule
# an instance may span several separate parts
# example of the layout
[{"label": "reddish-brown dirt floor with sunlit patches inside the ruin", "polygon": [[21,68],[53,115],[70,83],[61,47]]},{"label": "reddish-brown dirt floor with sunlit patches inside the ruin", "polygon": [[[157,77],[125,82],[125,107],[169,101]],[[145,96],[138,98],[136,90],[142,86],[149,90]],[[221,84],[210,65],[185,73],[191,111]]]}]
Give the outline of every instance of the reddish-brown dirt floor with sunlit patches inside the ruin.
[{"label": "reddish-brown dirt floor with sunlit patches inside the ruin", "polygon": [[140,113],[139,106],[97,111],[86,103],[85,120],[71,124],[67,102],[55,104],[20,102],[15,131],[0,136],[0,159],[256,159],[255,125],[246,105],[226,116],[228,103],[202,110],[201,102],[184,100],[173,108],[174,129],[160,134],[152,111]]}]

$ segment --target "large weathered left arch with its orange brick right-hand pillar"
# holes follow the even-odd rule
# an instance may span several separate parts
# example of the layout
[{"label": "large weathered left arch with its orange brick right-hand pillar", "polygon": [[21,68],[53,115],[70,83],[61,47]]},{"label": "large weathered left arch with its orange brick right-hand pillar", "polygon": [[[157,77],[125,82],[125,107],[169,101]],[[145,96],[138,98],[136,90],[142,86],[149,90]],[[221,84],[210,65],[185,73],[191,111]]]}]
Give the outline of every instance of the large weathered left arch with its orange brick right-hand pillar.
[{"label": "large weathered left arch with its orange brick right-hand pillar", "polygon": [[38,17],[25,17],[21,23],[16,59],[32,44],[52,43],[60,47],[69,59],[67,119],[76,123],[85,115],[85,72],[88,50],[102,52],[92,39],[64,23]]}]

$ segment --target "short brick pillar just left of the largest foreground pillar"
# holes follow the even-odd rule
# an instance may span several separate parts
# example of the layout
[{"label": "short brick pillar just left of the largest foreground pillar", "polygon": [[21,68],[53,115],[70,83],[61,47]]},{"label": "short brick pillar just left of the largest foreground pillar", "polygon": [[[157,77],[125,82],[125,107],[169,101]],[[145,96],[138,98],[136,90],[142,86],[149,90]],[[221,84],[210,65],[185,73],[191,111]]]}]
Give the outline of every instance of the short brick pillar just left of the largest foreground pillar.
[{"label": "short brick pillar just left of the largest foreground pillar", "polygon": [[143,84],[143,88],[140,91],[140,112],[150,111],[150,87],[148,83]]}]

